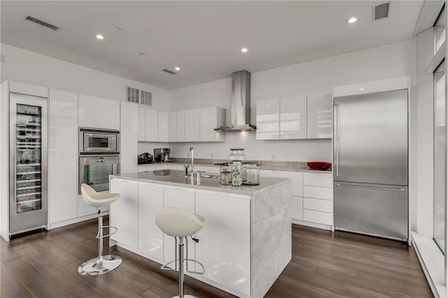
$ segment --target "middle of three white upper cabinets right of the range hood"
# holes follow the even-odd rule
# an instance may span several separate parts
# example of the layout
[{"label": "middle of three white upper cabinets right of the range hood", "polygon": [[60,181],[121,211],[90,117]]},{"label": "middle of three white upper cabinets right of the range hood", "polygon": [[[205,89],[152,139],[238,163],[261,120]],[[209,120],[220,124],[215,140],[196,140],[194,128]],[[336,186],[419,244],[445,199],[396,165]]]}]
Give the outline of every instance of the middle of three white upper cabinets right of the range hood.
[{"label": "middle of three white upper cabinets right of the range hood", "polygon": [[307,139],[307,96],[280,99],[280,139]]}]

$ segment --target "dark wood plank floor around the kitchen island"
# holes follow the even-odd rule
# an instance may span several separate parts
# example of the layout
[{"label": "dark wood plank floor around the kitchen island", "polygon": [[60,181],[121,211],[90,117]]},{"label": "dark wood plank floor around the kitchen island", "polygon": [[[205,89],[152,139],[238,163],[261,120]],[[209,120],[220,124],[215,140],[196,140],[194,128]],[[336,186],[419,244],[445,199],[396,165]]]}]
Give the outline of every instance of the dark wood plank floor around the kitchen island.
[{"label": "dark wood plank floor around the kitchen island", "polygon": [[[106,220],[107,222],[107,220]],[[1,297],[172,297],[176,273],[123,248],[118,269],[80,276],[97,253],[97,220],[1,240]],[[108,243],[105,243],[108,244]],[[107,247],[109,245],[105,245]],[[109,248],[106,248],[109,250]],[[186,293],[232,297],[186,277]],[[293,260],[266,297],[433,297],[413,248],[310,227],[293,227]]]}]

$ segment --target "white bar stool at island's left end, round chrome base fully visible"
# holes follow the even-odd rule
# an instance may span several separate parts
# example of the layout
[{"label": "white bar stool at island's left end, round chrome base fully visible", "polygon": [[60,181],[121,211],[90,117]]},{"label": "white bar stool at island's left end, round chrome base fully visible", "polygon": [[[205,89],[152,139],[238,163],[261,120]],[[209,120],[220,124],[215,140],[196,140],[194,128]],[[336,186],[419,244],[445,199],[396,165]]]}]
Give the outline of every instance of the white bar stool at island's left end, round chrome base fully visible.
[{"label": "white bar stool at island's left end, round chrome base fully visible", "polygon": [[[105,274],[120,266],[121,257],[118,257],[117,255],[103,255],[103,238],[115,234],[117,232],[117,228],[103,226],[101,207],[120,199],[120,194],[96,192],[92,187],[85,183],[81,185],[81,194],[83,195],[83,199],[87,205],[95,207],[98,210],[98,257],[94,257],[93,259],[80,264],[78,267],[78,273],[82,275]],[[105,227],[109,228],[109,234],[107,235],[103,235],[103,229]],[[115,229],[115,231],[111,233],[110,229]]]}]

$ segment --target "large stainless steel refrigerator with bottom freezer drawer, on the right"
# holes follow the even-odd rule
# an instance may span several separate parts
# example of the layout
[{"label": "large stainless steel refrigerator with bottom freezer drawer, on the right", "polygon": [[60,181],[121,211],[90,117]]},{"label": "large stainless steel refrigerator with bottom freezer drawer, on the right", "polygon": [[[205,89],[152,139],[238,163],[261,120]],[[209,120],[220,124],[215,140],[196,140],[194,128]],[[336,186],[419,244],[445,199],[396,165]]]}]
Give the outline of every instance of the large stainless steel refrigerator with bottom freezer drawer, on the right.
[{"label": "large stainless steel refrigerator with bottom freezer drawer, on the right", "polygon": [[407,90],[335,97],[335,229],[407,241]]}]

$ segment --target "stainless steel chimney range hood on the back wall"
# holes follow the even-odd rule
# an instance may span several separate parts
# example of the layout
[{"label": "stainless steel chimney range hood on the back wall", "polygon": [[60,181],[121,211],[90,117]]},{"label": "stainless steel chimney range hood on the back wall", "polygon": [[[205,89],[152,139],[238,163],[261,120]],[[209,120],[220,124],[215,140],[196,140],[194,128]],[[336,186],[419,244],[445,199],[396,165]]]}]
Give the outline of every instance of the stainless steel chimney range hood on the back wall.
[{"label": "stainless steel chimney range hood on the back wall", "polygon": [[216,128],[216,132],[250,132],[251,125],[251,73],[232,73],[232,124]]}]

